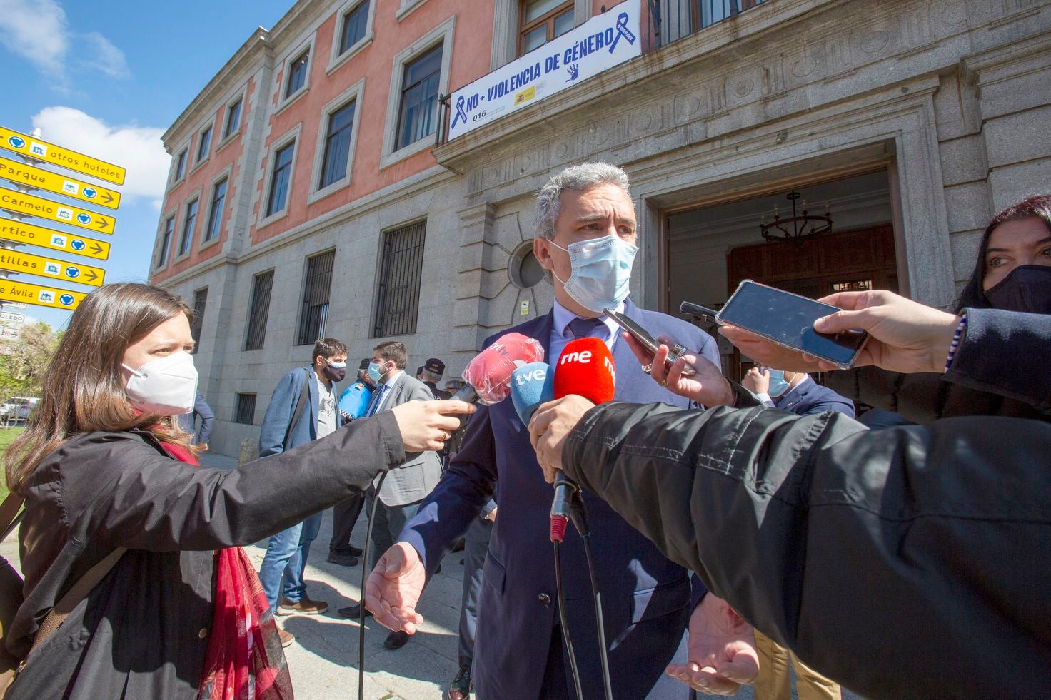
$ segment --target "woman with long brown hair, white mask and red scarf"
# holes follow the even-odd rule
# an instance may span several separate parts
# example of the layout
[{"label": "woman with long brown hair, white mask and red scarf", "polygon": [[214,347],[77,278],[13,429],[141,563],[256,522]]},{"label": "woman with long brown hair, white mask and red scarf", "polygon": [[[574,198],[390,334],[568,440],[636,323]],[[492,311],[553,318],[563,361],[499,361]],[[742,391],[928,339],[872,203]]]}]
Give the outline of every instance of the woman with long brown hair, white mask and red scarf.
[{"label": "woman with long brown hair, white mask and red scarf", "polygon": [[[406,452],[440,449],[459,425],[444,414],[473,410],[412,402],[231,471],[200,467],[173,418],[197,393],[190,318],[164,289],[101,287],[45,372],[5,456],[7,483],[25,497],[25,602],[6,639],[25,666],[8,700],[290,698],[240,545],[362,492]],[[107,557],[119,559],[34,645],[48,612]]]}]

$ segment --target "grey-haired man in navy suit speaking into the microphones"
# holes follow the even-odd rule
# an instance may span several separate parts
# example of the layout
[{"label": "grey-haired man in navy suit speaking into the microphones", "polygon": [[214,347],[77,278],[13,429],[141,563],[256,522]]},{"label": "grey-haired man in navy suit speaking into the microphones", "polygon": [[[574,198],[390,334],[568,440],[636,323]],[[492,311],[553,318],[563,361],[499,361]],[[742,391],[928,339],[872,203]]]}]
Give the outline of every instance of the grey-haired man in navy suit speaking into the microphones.
[{"label": "grey-haired man in navy suit speaking into the microphones", "polygon": [[[619,327],[602,311],[606,307],[622,311],[652,334],[672,336],[691,352],[719,362],[715,341],[701,329],[639,309],[627,297],[637,249],[635,209],[624,171],[602,163],[568,168],[540,190],[537,221],[533,250],[551,273],[554,308],[504,332],[539,341],[552,367],[575,337],[601,337],[612,348],[617,368],[615,399],[688,408],[686,399],[643,373]],[[537,469],[529,431],[510,398],[480,407],[468,424],[463,442],[438,487],[373,569],[368,604],[380,611],[377,621],[413,631],[421,619],[415,613],[418,591],[478,517],[497,480],[499,517],[483,565],[471,679],[482,698],[572,698],[549,533],[552,489]],[[736,620],[723,624],[733,611],[712,594],[693,608],[687,572],[665,559],[601,500],[583,497],[594,533],[615,696],[674,697],[655,686],[683,641],[687,621],[689,660],[716,667],[709,679],[713,691],[736,689],[737,683],[722,675],[727,664],[734,664],[738,680],[754,675],[750,629]],[[583,544],[571,534],[560,549],[565,612],[583,697],[602,697]],[[685,686],[666,682],[679,697],[686,696]]]}]

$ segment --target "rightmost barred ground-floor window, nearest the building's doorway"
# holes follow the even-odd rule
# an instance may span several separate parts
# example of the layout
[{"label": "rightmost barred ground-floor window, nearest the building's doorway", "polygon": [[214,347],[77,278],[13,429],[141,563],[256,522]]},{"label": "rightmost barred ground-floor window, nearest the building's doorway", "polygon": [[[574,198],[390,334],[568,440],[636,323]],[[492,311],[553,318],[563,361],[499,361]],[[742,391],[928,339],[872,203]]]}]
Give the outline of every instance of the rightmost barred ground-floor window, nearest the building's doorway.
[{"label": "rightmost barred ground-floor window, nearest the building's doorway", "polygon": [[372,337],[416,332],[427,222],[384,234]]}]

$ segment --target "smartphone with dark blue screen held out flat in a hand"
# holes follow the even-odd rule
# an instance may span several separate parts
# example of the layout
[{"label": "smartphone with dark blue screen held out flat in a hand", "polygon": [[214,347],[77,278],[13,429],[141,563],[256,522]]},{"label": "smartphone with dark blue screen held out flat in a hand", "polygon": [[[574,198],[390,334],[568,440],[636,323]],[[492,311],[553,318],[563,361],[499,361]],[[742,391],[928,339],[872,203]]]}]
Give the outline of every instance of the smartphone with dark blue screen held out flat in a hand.
[{"label": "smartphone with dark blue screen held out flat in a hand", "polygon": [[813,355],[840,369],[849,369],[865,347],[868,333],[853,329],[829,335],[813,330],[815,321],[839,310],[806,296],[744,280],[716,314],[716,323],[743,328],[785,348]]}]

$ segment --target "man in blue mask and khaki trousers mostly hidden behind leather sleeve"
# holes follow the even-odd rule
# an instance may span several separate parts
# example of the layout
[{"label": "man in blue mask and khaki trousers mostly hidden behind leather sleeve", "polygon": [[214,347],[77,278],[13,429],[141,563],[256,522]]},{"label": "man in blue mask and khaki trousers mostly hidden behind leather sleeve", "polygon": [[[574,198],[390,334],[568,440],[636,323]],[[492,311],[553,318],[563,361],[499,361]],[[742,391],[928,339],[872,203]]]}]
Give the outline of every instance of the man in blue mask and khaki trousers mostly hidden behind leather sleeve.
[{"label": "man in blue mask and khaki trousers mostly hidden behind leather sleeve", "polygon": [[[756,394],[767,406],[796,415],[812,415],[838,411],[851,418],[853,403],[828,387],[815,382],[806,372],[785,372],[753,367],[741,379],[741,386]],[[799,660],[790,650],[756,631],[759,653],[759,675],[756,677],[756,700],[789,700],[791,674],[796,671],[796,692],[800,700],[840,700],[839,684]]]}]

